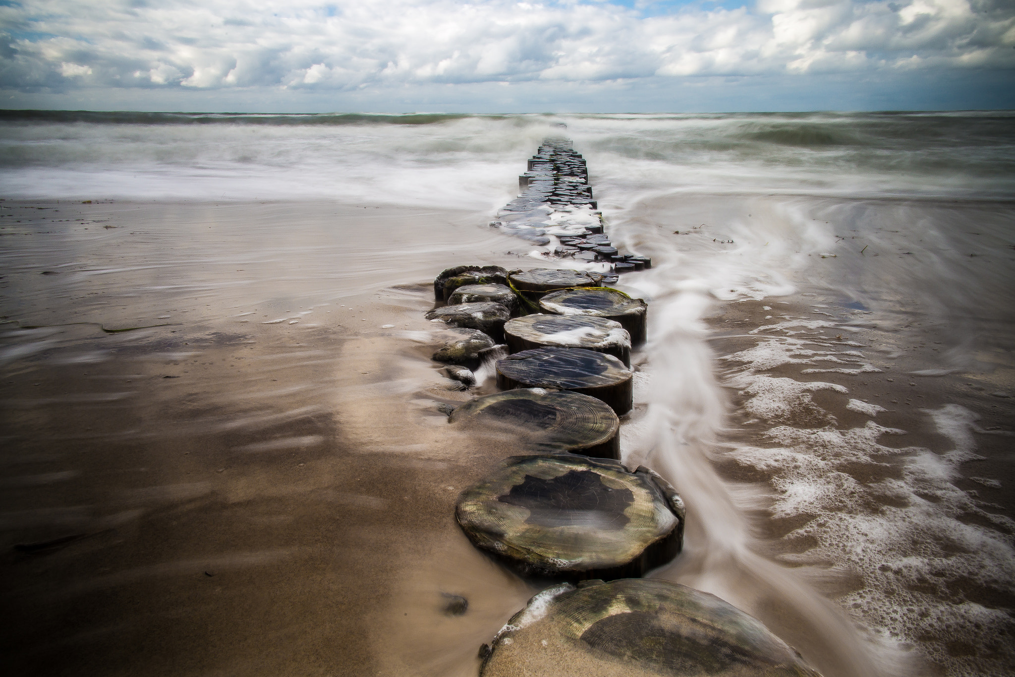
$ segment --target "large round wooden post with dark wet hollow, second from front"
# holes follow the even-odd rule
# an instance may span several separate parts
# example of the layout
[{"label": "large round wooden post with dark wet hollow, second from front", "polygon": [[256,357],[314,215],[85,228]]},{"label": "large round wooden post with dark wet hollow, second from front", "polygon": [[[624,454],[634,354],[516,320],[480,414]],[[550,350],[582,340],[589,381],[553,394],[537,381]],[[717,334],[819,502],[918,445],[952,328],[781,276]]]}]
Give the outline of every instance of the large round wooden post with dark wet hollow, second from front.
[{"label": "large round wooden post with dark wet hollow, second from front", "polygon": [[683,502],[646,468],[571,454],[507,459],[463,491],[469,539],[526,576],[642,576],[680,551]]}]

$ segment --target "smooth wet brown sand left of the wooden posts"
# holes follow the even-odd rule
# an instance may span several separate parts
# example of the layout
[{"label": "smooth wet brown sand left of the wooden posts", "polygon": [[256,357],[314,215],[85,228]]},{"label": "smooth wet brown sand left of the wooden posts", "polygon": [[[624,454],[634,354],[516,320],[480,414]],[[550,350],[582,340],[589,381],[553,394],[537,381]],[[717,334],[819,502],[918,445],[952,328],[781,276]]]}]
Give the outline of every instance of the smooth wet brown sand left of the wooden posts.
[{"label": "smooth wet brown sand left of the wooden posts", "polygon": [[4,207],[12,674],[475,669],[529,593],[455,524],[497,451],[441,427],[418,283],[514,241],[369,205]]}]

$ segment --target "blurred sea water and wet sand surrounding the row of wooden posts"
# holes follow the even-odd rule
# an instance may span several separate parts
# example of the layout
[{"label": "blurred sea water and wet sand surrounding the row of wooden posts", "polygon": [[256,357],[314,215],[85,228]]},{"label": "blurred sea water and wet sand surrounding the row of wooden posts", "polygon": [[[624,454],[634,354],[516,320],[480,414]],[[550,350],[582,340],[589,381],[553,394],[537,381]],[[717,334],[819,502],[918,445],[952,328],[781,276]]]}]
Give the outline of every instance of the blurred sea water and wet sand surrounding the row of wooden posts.
[{"label": "blurred sea water and wet sand surrounding the row of wooden posts", "polygon": [[[6,653],[475,674],[538,586],[454,523],[517,449],[436,409],[426,284],[546,265],[486,222],[558,119],[74,115],[0,127]],[[828,676],[1010,672],[1011,116],[563,120],[654,262],[622,451],[688,507],[654,576]]]}]

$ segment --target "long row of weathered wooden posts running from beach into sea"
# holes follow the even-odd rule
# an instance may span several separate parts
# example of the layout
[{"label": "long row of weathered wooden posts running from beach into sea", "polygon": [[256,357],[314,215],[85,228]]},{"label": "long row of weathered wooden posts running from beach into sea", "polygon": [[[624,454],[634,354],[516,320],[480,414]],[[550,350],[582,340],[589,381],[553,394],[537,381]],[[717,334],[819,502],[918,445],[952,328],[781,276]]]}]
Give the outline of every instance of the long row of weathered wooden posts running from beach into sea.
[{"label": "long row of weathered wooden posts running from beach into sea", "polygon": [[679,555],[686,514],[669,482],[621,462],[648,303],[604,284],[652,262],[612,247],[588,177],[570,141],[547,139],[492,224],[604,270],[450,268],[426,315],[457,328],[433,353],[456,387],[493,361],[501,391],[451,410],[450,424],[509,430],[527,452],[456,503],[476,547],[544,588],[480,648],[480,674],[820,677],[723,600],[641,578]]}]

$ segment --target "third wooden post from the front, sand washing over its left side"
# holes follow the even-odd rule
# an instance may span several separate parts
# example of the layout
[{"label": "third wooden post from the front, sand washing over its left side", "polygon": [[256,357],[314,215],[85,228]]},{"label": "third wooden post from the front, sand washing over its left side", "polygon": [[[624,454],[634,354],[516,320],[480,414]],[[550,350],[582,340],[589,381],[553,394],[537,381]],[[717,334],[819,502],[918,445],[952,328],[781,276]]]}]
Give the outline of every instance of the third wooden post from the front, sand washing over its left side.
[{"label": "third wooden post from the front, sand washing over its left side", "polygon": [[620,420],[602,400],[569,391],[520,388],[476,398],[449,420],[484,433],[518,435],[535,449],[620,459]]}]

